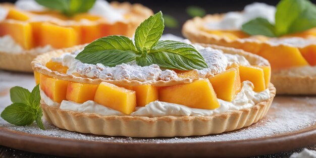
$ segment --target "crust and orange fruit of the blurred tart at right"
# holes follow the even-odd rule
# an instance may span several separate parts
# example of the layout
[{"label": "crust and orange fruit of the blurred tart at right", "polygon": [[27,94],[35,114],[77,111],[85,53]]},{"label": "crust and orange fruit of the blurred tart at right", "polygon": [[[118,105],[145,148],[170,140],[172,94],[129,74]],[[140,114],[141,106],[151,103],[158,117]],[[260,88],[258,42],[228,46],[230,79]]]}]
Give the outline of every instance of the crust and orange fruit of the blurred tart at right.
[{"label": "crust and orange fruit of the blurred tart at right", "polygon": [[[291,69],[296,67],[314,67],[316,65],[316,43],[300,47],[291,44],[273,44],[266,42],[270,40],[269,37],[249,36],[241,30],[205,28],[206,23],[221,21],[224,16],[225,14],[207,15],[203,18],[195,17],[188,20],[183,26],[183,35],[192,42],[243,49],[264,57],[271,64],[271,82],[278,89],[278,94],[316,94],[314,87],[316,76],[310,76],[308,73],[290,76],[284,75],[286,73],[279,73],[280,71],[291,72]],[[287,37],[316,37],[315,33],[316,28],[313,28]]]}]

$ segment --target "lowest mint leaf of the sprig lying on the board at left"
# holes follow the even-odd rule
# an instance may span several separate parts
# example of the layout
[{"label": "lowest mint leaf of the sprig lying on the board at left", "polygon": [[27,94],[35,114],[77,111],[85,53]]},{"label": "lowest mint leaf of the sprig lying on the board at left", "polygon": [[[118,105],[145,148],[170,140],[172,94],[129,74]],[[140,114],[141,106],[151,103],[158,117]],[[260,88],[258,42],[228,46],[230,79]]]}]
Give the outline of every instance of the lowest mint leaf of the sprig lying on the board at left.
[{"label": "lowest mint leaf of the sprig lying on the board at left", "polygon": [[16,102],[8,106],[1,117],[10,124],[17,126],[31,125],[34,122],[33,111],[27,104]]}]

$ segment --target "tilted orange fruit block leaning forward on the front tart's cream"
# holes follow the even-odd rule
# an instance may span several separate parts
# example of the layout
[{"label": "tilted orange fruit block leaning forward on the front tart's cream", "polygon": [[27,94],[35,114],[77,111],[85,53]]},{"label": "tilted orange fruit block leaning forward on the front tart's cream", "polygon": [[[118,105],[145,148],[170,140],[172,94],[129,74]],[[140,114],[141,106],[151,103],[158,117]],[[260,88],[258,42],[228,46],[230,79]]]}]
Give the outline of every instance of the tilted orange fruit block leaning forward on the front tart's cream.
[{"label": "tilted orange fruit block leaning forward on the front tart's cream", "polygon": [[136,93],[111,83],[101,82],[96,89],[94,101],[129,115],[136,107]]}]

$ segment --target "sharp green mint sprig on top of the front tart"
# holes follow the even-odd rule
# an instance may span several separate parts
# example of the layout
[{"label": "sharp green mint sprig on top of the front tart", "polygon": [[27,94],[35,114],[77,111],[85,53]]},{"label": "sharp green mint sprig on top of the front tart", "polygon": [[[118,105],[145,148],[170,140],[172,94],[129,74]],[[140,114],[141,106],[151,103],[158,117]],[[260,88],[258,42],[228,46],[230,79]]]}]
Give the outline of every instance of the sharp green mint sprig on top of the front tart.
[{"label": "sharp green mint sprig on top of the front tart", "polygon": [[114,67],[136,60],[139,66],[151,64],[161,68],[192,70],[207,68],[203,57],[190,44],[178,41],[160,41],[164,31],[161,12],[150,16],[138,26],[135,45],[125,36],[108,36],[88,44],[76,59],[82,63]]}]

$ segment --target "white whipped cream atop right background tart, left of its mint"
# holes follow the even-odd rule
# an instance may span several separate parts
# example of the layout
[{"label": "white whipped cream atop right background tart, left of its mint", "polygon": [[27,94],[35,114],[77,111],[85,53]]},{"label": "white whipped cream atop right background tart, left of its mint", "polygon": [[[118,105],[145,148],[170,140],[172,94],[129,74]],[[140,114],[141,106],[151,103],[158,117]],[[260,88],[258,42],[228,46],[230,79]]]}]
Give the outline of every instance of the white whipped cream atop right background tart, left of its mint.
[{"label": "white whipped cream atop right background tart, left of its mint", "polygon": [[276,8],[264,3],[247,5],[243,12],[229,12],[221,21],[212,21],[206,24],[206,28],[213,30],[239,30],[249,20],[261,17],[266,18],[272,24],[275,23]]}]

